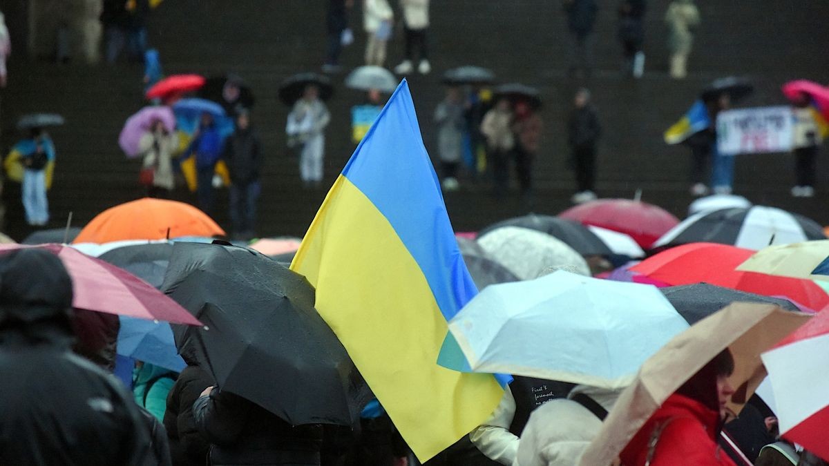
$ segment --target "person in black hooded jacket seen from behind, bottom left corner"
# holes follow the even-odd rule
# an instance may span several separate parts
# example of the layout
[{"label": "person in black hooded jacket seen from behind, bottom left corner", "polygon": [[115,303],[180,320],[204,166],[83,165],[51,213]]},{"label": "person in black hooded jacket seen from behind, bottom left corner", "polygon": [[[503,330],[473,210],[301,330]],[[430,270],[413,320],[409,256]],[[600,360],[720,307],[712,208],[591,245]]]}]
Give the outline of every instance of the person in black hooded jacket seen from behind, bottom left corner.
[{"label": "person in black hooded jacket seen from behind, bottom left corner", "polygon": [[0,256],[0,464],[155,464],[131,396],[71,352],[71,303],[56,255]]}]

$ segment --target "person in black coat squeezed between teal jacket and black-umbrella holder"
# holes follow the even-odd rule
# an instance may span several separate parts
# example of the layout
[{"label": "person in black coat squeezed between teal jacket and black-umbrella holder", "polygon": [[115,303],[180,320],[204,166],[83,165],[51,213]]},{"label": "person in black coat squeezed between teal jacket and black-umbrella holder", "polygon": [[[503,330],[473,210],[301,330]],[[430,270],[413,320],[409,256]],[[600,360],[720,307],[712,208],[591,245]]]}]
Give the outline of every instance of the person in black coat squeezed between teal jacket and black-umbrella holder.
[{"label": "person in black coat squeezed between teal jacket and black-umbrella holder", "polygon": [[193,418],[193,403],[202,391],[215,382],[213,377],[196,364],[195,358],[182,353],[187,367],[178,375],[167,395],[164,427],[170,440],[172,464],[176,466],[202,466],[206,463],[210,442],[203,437]]}]

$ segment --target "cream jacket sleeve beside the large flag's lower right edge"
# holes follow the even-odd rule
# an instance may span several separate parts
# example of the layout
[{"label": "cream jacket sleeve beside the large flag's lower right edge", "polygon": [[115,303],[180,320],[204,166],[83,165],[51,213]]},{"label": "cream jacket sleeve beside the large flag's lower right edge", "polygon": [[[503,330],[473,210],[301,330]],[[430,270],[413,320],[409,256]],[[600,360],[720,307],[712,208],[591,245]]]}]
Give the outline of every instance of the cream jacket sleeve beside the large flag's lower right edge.
[{"label": "cream jacket sleeve beside the large flag's lower right edge", "polygon": [[507,466],[518,454],[518,437],[509,430],[515,414],[516,401],[507,387],[492,416],[469,433],[469,439],[484,456]]}]

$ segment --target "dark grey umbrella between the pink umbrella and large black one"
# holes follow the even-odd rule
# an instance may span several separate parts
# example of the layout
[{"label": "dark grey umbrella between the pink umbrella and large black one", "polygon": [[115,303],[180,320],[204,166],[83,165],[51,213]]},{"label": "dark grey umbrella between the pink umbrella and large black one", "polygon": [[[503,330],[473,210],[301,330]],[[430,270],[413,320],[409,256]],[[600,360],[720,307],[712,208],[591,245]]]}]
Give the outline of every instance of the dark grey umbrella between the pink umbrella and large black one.
[{"label": "dark grey umbrella between the pink umbrella and large black one", "polygon": [[116,265],[160,289],[171,255],[172,244],[148,243],[109,250],[98,259]]}]

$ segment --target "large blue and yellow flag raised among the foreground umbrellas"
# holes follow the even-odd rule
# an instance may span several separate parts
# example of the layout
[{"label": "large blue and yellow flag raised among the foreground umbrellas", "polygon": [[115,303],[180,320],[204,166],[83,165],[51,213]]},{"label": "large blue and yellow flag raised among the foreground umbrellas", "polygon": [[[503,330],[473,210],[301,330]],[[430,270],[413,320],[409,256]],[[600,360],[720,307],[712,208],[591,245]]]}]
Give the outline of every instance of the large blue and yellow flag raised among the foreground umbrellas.
[{"label": "large blue and yellow flag raised among the foreground umbrellas", "polygon": [[495,377],[439,366],[478,290],[449,224],[404,80],[334,183],[291,269],[421,461],[481,424]]}]

